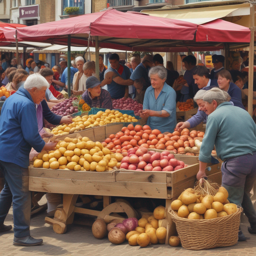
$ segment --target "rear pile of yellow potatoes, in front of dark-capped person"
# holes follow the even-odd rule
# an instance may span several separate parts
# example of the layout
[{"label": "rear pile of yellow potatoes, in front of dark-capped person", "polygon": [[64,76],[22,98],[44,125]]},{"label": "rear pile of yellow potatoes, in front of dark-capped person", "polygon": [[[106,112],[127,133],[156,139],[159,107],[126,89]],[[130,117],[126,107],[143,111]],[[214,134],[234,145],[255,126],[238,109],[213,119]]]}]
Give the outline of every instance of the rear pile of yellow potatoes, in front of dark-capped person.
[{"label": "rear pile of yellow potatoes, in front of dark-capped person", "polygon": [[99,111],[96,115],[77,116],[72,119],[71,124],[63,124],[53,128],[52,133],[54,135],[65,135],[94,126],[123,122],[138,122],[138,120],[117,110],[106,109],[105,112]]}]

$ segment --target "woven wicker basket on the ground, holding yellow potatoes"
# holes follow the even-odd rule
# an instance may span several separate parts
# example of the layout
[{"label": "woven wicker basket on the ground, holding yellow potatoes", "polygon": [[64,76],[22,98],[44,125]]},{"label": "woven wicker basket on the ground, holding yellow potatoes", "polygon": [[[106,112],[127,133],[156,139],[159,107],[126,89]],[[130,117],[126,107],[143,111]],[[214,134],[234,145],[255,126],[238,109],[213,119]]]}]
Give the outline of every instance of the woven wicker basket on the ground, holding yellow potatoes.
[{"label": "woven wicker basket on the ground, holding yellow potatoes", "polygon": [[182,247],[190,250],[203,250],[235,245],[238,241],[242,208],[225,217],[215,219],[189,220],[169,211],[176,224]]}]

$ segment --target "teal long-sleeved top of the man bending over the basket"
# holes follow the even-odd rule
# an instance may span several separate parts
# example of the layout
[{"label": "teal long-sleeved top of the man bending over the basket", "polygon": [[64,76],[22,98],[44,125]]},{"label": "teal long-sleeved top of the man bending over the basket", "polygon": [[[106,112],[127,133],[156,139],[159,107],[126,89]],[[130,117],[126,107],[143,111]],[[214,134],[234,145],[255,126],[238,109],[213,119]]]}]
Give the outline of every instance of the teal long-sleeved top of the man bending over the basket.
[{"label": "teal long-sleeved top of the man bending over the basket", "polygon": [[256,125],[247,111],[229,102],[220,104],[208,116],[199,160],[211,162],[213,147],[221,160],[256,151]]}]

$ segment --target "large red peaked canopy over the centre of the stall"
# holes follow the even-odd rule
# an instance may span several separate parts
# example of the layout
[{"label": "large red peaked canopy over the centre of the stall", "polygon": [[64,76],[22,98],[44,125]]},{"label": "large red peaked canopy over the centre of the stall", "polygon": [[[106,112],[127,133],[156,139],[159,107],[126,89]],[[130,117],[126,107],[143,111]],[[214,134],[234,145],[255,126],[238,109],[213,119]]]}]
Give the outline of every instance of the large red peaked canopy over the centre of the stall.
[{"label": "large red peaked canopy over the centre of the stall", "polygon": [[[156,40],[161,40],[162,45],[164,42],[164,46],[167,45],[165,40],[193,40],[196,28],[197,25],[189,22],[110,9],[18,28],[18,39],[66,44],[67,36],[71,35],[72,44],[82,41],[85,45],[87,39],[98,36],[100,43],[132,49],[134,46],[155,46]],[[11,40],[14,32],[5,32],[5,36]]]}]

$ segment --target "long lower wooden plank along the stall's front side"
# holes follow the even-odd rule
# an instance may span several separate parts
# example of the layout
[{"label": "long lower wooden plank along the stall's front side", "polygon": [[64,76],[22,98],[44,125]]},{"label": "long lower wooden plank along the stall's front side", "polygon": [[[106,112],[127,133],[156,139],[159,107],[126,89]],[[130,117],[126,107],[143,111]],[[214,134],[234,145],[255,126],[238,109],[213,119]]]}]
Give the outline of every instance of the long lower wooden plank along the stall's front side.
[{"label": "long lower wooden plank along the stall's front side", "polygon": [[83,180],[29,177],[29,190],[38,192],[104,195],[142,198],[167,198],[167,188],[162,183],[141,182],[87,182]]}]

